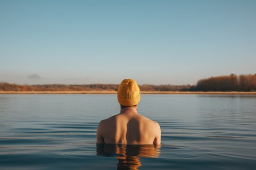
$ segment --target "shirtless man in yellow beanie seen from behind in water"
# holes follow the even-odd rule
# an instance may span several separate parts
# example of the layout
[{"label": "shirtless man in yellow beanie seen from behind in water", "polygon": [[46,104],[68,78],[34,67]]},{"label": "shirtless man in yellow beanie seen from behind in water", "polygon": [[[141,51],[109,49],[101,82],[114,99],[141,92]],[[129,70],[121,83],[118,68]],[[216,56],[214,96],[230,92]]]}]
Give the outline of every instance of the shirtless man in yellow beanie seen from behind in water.
[{"label": "shirtless man in yellow beanie seen from behind in water", "polygon": [[157,122],[137,113],[140,89],[133,79],[124,79],[118,88],[120,113],[101,120],[97,128],[98,144],[160,144]]}]

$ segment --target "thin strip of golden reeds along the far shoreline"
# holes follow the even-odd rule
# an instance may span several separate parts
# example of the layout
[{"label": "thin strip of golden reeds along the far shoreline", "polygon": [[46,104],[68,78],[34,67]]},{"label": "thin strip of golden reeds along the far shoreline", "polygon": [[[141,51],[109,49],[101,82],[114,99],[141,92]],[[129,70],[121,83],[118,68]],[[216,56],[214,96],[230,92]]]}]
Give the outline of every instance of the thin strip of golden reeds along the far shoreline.
[{"label": "thin strip of golden reeds along the far shoreline", "polygon": [[[117,94],[116,91],[0,91],[0,94]],[[256,92],[179,92],[179,91],[141,91],[141,94],[256,94]]]}]

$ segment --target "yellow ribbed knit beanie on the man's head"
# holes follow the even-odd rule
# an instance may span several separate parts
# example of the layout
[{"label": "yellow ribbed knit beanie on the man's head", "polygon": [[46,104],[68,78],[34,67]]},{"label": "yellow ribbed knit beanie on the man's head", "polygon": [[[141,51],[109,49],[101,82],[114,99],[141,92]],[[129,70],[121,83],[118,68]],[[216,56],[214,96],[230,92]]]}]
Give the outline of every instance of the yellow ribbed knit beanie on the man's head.
[{"label": "yellow ribbed knit beanie on the man's head", "polygon": [[134,106],[140,101],[140,90],[135,80],[124,79],[118,87],[118,102],[123,106]]}]

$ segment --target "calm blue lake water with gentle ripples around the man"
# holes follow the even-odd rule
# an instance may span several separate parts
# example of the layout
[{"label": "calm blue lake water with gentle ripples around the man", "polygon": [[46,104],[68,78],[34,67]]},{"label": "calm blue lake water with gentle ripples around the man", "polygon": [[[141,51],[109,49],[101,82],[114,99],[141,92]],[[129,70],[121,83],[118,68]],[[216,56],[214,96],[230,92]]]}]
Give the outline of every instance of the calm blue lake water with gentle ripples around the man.
[{"label": "calm blue lake water with gentle ripples around the man", "polygon": [[256,95],[145,94],[161,145],[96,145],[114,94],[0,94],[1,170],[254,169]]}]

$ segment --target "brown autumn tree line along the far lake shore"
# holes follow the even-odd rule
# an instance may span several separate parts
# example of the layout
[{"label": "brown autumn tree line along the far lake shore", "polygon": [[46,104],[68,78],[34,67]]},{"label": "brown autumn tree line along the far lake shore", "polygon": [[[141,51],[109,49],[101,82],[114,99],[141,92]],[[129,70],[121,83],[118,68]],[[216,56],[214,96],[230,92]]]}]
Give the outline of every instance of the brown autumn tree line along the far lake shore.
[{"label": "brown autumn tree line along the far lake shore", "polygon": [[[17,85],[0,82],[0,91],[117,91],[119,85],[91,84],[91,85]],[[204,78],[196,85],[139,85],[141,91],[256,91],[256,75],[231,74],[229,76],[215,76]]]}]

